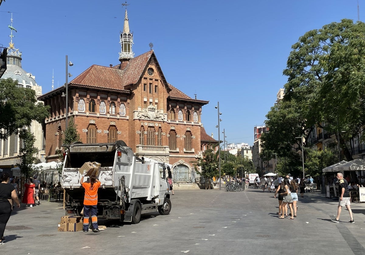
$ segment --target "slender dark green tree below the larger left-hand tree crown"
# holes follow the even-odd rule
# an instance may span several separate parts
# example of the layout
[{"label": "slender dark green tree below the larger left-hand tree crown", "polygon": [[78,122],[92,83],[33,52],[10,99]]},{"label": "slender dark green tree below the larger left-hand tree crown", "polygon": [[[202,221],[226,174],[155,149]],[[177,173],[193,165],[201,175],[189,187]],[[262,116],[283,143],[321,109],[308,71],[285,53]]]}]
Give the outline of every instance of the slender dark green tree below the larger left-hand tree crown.
[{"label": "slender dark green tree below the larger left-hand tree crown", "polygon": [[19,132],[20,138],[20,173],[26,178],[32,177],[37,170],[34,163],[37,160],[39,150],[34,146],[35,136],[28,129]]}]

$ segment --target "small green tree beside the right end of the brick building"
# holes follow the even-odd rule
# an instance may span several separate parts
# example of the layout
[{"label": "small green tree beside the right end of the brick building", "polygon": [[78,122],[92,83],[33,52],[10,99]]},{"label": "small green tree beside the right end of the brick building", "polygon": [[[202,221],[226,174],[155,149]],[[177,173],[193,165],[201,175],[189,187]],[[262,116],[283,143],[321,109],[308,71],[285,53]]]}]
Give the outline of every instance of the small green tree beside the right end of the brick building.
[{"label": "small green tree beside the right end of the brick building", "polygon": [[201,170],[197,170],[197,172],[205,178],[205,188],[207,188],[208,184],[210,189],[211,178],[219,175],[218,153],[214,153],[212,149],[208,148],[203,152],[202,157],[199,157],[197,161],[192,161],[192,163],[195,169],[199,169],[197,168],[198,166],[200,167]]}]

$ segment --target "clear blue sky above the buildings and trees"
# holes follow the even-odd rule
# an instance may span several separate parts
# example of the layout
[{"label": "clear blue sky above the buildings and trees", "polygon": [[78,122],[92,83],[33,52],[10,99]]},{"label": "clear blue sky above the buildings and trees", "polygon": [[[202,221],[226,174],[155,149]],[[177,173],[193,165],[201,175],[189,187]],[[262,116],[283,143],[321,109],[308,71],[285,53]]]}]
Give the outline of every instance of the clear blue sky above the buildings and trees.
[{"label": "clear blue sky above the buildings and trees", "polygon": [[[92,64],[118,64],[124,1],[9,0],[0,6],[0,44],[8,47],[11,14],[18,31],[13,42],[23,52],[22,67],[43,93],[65,83],[65,55],[74,63],[69,81]],[[291,46],[305,32],[343,18],[357,20],[357,0],[130,0],[135,56],[153,49],[169,83],[194,98],[208,100],[202,122],[218,140],[253,145],[287,78]],[[365,0],[359,0],[360,20]],[[221,135],[223,140],[223,135]]]}]

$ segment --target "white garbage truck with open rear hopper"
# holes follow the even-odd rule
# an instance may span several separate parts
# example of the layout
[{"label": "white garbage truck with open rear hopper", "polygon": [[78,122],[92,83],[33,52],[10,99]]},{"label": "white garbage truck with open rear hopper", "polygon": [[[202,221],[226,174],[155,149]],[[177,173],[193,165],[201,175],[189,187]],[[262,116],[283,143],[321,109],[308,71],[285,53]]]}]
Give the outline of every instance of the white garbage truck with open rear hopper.
[{"label": "white garbage truck with open rear hopper", "polygon": [[67,146],[62,169],[66,215],[79,216],[84,207],[85,191],[79,169],[85,162],[99,163],[98,218],[137,224],[144,213],[170,213],[170,186],[166,181],[169,165],[138,158],[120,140],[101,144],[74,142]]}]

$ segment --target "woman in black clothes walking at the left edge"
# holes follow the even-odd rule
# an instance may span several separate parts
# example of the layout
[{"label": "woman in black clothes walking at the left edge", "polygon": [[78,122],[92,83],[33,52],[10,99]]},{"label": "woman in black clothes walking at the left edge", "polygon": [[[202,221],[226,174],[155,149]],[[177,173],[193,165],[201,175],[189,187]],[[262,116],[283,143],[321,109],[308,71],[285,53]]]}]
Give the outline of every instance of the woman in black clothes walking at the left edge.
[{"label": "woman in black clothes walking at the left edge", "polygon": [[19,208],[19,200],[18,194],[16,194],[15,188],[13,185],[9,184],[9,174],[3,173],[0,176],[0,245],[4,244],[4,231],[5,226],[8,223],[10,218],[10,214],[12,211],[12,201],[16,203],[16,206]]}]

